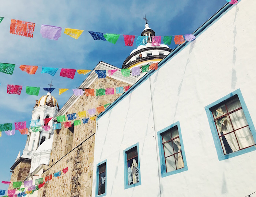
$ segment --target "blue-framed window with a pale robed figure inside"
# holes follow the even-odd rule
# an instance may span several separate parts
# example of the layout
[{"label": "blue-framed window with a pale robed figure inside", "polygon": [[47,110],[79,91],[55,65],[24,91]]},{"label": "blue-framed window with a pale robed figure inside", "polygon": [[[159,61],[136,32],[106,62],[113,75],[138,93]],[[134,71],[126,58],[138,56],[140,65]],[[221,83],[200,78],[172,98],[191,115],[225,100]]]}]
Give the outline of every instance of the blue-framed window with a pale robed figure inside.
[{"label": "blue-framed window with a pale robed figure inside", "polygon": [[141,178],[139,143],[136,143],[124,150],[124,189],[138,185],[141,185]]}]

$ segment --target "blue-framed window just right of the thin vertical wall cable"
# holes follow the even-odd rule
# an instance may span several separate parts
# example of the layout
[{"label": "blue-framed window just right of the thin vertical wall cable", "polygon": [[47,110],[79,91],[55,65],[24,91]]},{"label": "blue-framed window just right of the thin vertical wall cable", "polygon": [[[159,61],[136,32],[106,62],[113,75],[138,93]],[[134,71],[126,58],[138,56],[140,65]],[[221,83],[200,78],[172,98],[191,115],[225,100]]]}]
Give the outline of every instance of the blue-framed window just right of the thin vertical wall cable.
[{"label": "blue-framed window just right of the thin vertical wall cable", "polygon": [[157,136],[162,177],[188,170],[180,122],[158,131]]}]

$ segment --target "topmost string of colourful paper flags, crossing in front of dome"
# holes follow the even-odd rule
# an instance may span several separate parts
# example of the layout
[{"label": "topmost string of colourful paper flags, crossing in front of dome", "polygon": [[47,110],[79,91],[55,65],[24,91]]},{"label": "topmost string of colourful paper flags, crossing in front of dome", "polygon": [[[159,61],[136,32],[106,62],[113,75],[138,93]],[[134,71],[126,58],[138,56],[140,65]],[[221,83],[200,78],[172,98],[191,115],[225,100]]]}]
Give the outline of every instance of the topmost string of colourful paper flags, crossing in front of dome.
[{"label": "topmost string of colourful paper flags, crossing in front of dome", "polygon": [[[0,23],[4,19],[4,17],[0,17]],[[22,20],[11,19],[10,25],[10,33],[15,35],[26,36],[29,38],[33,38],[33,32],[35,29],[35,23],[26,22]],[[49,26],[49,25],[41,25],[40,33],[42,38],[47,38],[50,40],[58,40],[61,36],[62,27]],[[72,38],[78,39],[79,36],[86,30],[78,30],[65,28],[64,34],[71,36]],[[116,44],[120,35],[124,36],[125,46],[133,46],[133,42],[135,40],[135,35],[124,35],[124,34],[109,34],[95,31],[87,31],[93,37],[94,40],[103,40],[109,41],[113,44]],[[184,34],[185,39],[188,41],[192,41],[195,39],[195,36],[192,34]],[[163,37],[163,43],[166,45],[170,45],[172,42],[173,36],[152,36],[152,46],[160,46],[161,37]],[[138,36],[136,39],[136,45],[146,45],[148,40],[148,36]],[[185,42],[183,35],[174,35],[174,42],[176,45],[180,45]]]}]

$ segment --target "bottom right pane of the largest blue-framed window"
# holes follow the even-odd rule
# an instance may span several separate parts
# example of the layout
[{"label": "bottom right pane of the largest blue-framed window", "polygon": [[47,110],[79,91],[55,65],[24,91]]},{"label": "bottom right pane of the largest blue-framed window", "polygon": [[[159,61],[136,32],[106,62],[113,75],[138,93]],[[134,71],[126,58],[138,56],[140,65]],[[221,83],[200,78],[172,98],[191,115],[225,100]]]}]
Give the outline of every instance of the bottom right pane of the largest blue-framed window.
[{"label": "bottom right pane of the largest blue-framed window", "polygon": [[241,128],[240,130],[235,131],[237,140],[240,148],[246,148],[252,145],[255,145],[252,133],[248,127]]}]

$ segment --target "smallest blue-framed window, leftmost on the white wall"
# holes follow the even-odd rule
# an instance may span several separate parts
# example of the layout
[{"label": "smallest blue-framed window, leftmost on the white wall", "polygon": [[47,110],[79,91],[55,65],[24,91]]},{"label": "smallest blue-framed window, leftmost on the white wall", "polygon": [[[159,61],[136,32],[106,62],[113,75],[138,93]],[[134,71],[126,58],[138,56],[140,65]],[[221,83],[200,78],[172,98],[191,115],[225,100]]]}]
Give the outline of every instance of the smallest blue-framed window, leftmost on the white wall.
[{"label": "smallest blue-framed window, leftmost on the white wall", "polygon": [[107,195],[107,160],[97,164],[95,196]]}]

